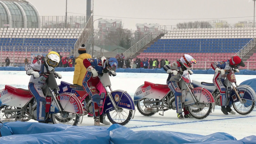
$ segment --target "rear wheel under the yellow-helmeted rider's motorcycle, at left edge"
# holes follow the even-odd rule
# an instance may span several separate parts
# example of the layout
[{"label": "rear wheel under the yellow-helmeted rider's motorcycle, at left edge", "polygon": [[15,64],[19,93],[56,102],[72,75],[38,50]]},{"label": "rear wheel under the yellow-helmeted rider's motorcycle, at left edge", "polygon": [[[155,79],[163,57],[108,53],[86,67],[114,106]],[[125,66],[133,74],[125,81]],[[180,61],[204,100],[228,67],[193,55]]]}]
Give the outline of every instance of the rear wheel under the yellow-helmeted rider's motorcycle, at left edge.
[{"label": "rear wheel under the yellow-helmeted rider's motorcycle, at left edge", "polygon": [[0,108],[0,120],[2,121],[4,118],[16,118],[19,119],[20,117],[17,115],[18,111],[15,112],[5,112],[2,113],[2,110],[16,110],[19,109],[14,106],[3,106]]}]

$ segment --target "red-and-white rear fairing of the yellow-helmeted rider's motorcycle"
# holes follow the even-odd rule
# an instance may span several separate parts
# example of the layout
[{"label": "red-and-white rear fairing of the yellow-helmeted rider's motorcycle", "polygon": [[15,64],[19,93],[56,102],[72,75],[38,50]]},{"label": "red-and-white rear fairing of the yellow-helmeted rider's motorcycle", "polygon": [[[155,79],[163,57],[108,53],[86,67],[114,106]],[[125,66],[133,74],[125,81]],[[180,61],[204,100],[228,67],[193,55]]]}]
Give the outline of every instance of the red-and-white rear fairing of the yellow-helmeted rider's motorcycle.
[{"label": "red-and-white rear fairing of the yellow-helmeted rider's motorcycle", "polygon": [[7,106],[23,107],[32,98],[33,98],[33,95],[30,94],[29,90],[5,85],[5,89],[2,89],[0,91],[0,106],[7,105]]}]

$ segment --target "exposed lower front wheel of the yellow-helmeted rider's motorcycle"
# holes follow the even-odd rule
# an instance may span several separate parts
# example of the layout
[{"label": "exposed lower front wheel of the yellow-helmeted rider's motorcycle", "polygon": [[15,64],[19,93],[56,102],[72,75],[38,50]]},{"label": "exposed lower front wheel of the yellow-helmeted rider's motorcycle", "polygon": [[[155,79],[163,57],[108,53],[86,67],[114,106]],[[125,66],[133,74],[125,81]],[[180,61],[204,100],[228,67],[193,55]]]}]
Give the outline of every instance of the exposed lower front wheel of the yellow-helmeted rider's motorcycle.
[{"label": "exposed lower front wheel of the yellow-helmeted rider's motorcycle", "polygon": [[64,112],[64,114],[51,114],[53,124],[61,123],[64,125],[76,126],[79,121],[79,115],[75,113]]}]

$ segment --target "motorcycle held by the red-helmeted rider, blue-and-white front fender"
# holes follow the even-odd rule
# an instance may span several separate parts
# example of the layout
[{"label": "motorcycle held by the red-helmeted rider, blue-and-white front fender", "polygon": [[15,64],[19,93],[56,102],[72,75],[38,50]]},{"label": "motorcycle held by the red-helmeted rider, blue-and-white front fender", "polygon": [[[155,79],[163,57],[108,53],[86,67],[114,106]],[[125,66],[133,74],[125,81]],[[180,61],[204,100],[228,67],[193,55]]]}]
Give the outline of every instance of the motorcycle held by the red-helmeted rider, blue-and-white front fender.
[{"label": "motorcycle held by the red-helmeted rider, blue-and-white front fender", "polygon": [[[237,85],[234,70],[225,70],[227,78],[223,84],[226,87],[226,95],[230,97],[229,101],[235,111],[241,115],[247,115],[251,113],[255,107],[256,93],[248,85]],[[234,83],[234,84],[233,84]],[[220,93],[217,87],[213,83],[193,81],[194,87],[204,87],[209,90],[214,97],[215,104],[221,106]],[[201,109],[198,109],[199,111]]]}]

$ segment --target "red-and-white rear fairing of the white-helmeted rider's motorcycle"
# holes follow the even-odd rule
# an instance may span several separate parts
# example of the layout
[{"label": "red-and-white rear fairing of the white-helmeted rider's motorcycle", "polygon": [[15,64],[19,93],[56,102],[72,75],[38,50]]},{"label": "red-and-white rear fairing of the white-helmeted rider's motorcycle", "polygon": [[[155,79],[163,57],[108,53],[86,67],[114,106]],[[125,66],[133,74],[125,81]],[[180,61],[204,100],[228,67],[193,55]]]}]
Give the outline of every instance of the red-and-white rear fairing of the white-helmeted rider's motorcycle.
[{"label": "red-and-white rear fairing of the white-helmeted rider's motorcycle", "polygon": [[134,93],[134,102],[143,98],[162,99],[170,91],[167,85],[154,84],[151,82],[144,82],[144,85],[138,87]]}]

